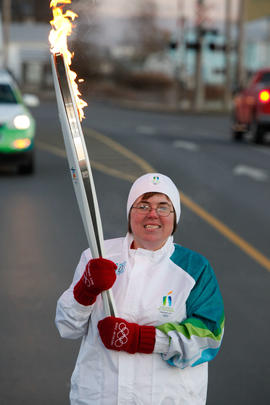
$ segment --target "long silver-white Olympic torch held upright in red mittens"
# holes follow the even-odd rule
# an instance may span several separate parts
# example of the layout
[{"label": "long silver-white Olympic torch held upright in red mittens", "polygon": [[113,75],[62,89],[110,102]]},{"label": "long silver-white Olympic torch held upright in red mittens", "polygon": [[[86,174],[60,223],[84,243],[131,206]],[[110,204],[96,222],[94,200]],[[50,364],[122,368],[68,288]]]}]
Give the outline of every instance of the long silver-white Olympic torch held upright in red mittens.
[{"label": "long silver-white Olympic torch held upright in red mittens", "polygon": [[[52,52],[51,65],[65,148],[87,241],[93,258],[104,256],[104,239],[91,165],[80,124],[70,69],[61,52]],[[73,72],[71,72],[73,73]],[[86,104],[86,103],[85,103]],[[116,316],[111,290],[102,293],[106,316]]]}]

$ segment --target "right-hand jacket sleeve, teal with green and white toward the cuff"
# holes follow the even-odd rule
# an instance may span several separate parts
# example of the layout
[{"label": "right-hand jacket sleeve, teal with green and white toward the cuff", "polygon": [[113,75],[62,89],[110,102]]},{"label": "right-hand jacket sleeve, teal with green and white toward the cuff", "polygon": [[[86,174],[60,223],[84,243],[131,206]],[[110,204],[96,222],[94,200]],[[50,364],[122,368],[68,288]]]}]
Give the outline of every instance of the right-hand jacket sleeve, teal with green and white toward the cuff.
[{"label": "right-hand jacket sleeve, teal with green and white toward the cuff", "polygon": [[[162,355],[179,368],[197,366],[212,360],[219,351],[224,331],[224,307],[219,286],[208,261],[187,249],[172,256],[195,280],[186,301],[187,318],[157,328],[169,336],[170,348]],[[181,254],[180,254],[181,253]]]}]

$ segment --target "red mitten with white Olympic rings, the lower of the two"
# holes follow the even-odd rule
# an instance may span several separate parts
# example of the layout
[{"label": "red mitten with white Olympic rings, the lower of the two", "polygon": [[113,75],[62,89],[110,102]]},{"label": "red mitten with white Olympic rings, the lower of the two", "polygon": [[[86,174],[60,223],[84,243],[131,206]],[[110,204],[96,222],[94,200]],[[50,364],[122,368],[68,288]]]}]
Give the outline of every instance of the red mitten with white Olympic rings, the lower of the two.
[{"label": "red mitten with white Olympic rings, the lower of the two", "polygon": [[154,326],[140,326],[109,316],[98,323],[101,340],[107,349],[134,353],[152,353],[156,340]]}]

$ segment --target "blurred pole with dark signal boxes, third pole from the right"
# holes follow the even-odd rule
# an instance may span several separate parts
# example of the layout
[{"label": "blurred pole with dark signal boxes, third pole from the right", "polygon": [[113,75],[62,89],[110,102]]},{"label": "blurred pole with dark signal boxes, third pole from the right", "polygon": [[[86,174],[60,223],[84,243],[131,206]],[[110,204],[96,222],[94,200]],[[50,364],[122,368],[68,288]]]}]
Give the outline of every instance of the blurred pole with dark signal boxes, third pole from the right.
[{"label": "blurred pole with dark signal boxes, third pole from the right", "polygon": [[194,108],[200,111],[204,103],[204,86],[202,75],[202,45],[203,45],[203,16],[204,0],[197,0],[197,52],[195,66],[195,91],[194,91]]}]

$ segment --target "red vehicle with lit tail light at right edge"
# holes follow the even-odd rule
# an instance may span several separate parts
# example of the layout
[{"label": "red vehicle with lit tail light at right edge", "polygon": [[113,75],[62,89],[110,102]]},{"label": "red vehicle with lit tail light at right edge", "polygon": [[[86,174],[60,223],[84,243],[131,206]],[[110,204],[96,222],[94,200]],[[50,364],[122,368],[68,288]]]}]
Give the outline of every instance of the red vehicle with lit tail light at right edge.
[{"label": "red vehicle with lit tail light at right edge", "polygon": [[250,132],[254,142],[261,143],[270,131],[270,68],[255,73],[247,86],[236,93],[233,103],[233,138],[241,140]]}]

